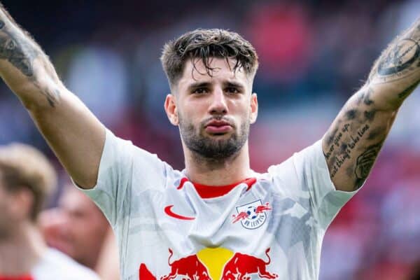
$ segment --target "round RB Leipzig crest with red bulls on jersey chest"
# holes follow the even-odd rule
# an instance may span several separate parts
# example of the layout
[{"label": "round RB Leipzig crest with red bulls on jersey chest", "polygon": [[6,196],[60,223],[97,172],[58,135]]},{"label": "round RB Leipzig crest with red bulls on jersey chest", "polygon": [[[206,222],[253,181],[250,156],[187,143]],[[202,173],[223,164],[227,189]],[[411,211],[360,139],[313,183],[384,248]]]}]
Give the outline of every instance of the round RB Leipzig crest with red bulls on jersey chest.
[{"label": "round RB Leipzig crest with red bulls on jersey chest", "polygon": [[232,215],[232,223],[241,222],[244,228],[253,230],[259,228],[265,220],[267,220],[267,215],[265,211],[271,210],[269,203],[266,202],[262,204],[261,200],[251,202],[248,204],[241,205],[236,207],[237,214]]}]

